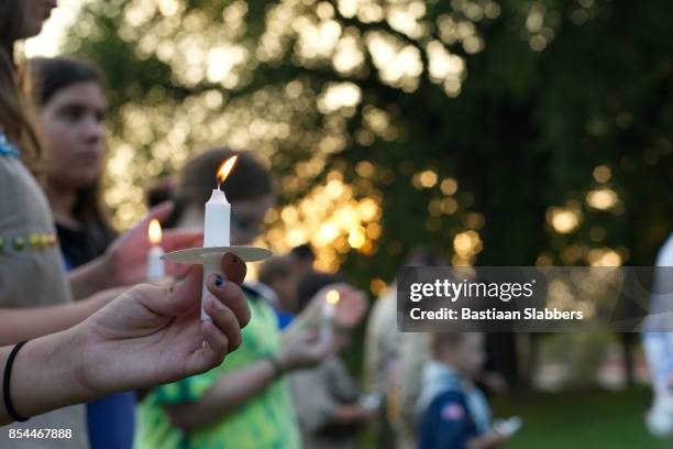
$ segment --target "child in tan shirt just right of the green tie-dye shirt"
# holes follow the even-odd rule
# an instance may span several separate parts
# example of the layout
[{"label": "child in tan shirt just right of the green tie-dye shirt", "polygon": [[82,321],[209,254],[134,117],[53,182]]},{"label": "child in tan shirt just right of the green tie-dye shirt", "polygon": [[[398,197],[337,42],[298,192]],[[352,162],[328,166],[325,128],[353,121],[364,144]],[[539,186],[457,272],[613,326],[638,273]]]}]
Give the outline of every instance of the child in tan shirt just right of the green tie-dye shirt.
[{"label": "child in tan shirt just right of the green tie-dye shirt", "polygon": [[[340,275],[307,272],[297,285],[299,310],[330,287],[340,287],[342,295],[361,295],[347,287]],[[351,344],[350,329],[335,326],[334,344],[336,352],[346,351]],[[357,384],[338,354],[316,368],[293,374],[291,384],[305,448],[358,447],[358,432],[374,416],[375,406],[361,403]]]}]

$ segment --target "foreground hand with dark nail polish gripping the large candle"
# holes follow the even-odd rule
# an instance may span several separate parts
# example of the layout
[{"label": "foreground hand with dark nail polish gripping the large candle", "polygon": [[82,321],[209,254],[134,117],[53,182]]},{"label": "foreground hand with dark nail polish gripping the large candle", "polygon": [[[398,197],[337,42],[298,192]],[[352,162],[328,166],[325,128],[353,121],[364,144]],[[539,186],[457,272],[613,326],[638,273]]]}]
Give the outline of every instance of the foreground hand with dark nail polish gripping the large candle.
[{"label": "foreground hand with dark nail polish gripping the large candle", "polygon": [[240,288],[245,264],[227,254],[223,284],[208,278],[212,294],[201,321],[200,266],[170,288],[136,286],[81,322],[76,330],[78,379],[91,394],[139,390],[202,373],[241,344],[250,308]]}]

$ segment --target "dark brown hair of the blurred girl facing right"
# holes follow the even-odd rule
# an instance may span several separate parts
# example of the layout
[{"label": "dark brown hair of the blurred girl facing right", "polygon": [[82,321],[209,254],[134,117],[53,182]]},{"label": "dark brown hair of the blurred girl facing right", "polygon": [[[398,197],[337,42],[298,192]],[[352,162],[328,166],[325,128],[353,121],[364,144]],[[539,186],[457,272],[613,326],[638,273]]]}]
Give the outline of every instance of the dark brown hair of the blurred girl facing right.
[{"label": "dark brown hair of the blurred girl facing right", "polygon": [[[29,62],[33,98],[38,107],[46,106],[62,89],[80,83],[96,83],[104,88],[101,73],[91,63],[70,57],[36,57]],[[100,182],[80,188],[73,215],[87,231],[89,244],[96,253],[102,252],[114,237],[100,205]]]}]

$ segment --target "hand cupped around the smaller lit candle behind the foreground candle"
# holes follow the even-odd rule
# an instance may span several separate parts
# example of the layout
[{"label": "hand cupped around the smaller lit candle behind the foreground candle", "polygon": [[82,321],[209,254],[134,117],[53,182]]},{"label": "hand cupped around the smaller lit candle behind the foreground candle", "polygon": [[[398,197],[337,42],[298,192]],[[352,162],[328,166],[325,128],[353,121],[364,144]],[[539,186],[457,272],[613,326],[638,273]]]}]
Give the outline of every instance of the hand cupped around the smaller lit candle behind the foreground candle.
[{"label": "hand cupped around the smaller lit candle behind the foreground candle", "polygon": [[[152,242],[147,236],[150,221],[165,220],[173,211],[173,202],[163,202],[147,213],[133,228],[118,237],[106,251],[104,269],[109,273],[111,286],[129,285],[143,281],[147,271],[147,252]],[[188,248],[201,247],[203,232],[201,230],[164,230],[162,248],[172,252]],[[186,274],[187,265],[166,264],[166,271],[174,276]]]}]

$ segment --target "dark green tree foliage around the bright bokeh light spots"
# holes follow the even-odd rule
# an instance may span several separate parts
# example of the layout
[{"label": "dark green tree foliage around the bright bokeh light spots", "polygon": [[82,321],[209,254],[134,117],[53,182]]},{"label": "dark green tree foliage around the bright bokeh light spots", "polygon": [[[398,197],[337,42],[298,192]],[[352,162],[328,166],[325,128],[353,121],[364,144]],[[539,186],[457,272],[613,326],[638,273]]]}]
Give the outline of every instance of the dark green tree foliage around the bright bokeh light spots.
[{"label": "dark green tree foliage around the bright bokeh light spots", "polygon": [[[363,1],[352,2],[361,4],[352,13],[347,1],[190,0],[178,1],[181,7],[168,18],[151,8],[147,19],[129,32],[129,11],[141,3],[153,2],[91,3],[67,44],[108,74],[113,132],[128,140],[123,105],[165,103],[172,105],[172,111],[212,90],[222,92],[224,101],[209,117],[247,110],[245,120],[252,121],[274,116],[274,102],[295,105],[294,112],[276,114],[289,124],[289,133],[279,138],[252,132],[250,145],[267,149],[279,177],[300,178],[298,188],[283,191],[284,201],[296,201],[332,167],[339,167],[360,196],[380,196],[384,232],[376,251],[367,256],[351,251],[344,260],[344,269],[363,285],[374,276],[391,278],[401,254],[419,243],[439,245],[453,256],[453,238],[475,227],[468,219],[474,212],[485,219],[483,227],[476,226],[483,251],[473,258],[483,265],[530,265],[541,254],[551,263],[585,264],[592,248],[616,249],[627,264],[651,264],[670,232],[673,4],[669,1]],[[363,4],[389,11],[411,3],[424,7],[415,19],[419,32],[400,31],[391,21],[362,12]],[[231,31],[239,15],[222,13],[232,6],[230,11],[239,7],[244,11],[242,32]],[[272,20],[278,11],[285,11],[280,28]],[[186,20],[194,14],[206,18],[208,26],[189,28]],[[299,17],[305,22],[297,22]],[[440,23],[449,19],[455,26],[442,32]],[[339,24],[340,40],[353,36],[362,55],[356,67],[338,69],[334,51],[302,54],[302,31],[328,21]],[[399,83],[384,80],[386,67],[376,63],[367,46],[376,33],[400,51],[415,48],[420,74]],[[218,43],[244,48],[244,61],[230,70],[235,81],[201,76],[187,83],[181,72],[192,67],[176,63],[175,56],[161,56],[158,50],[162,41],[186,35],[212,37],[206,50]],[[140,44],[145,50],[139,51],[139,43],[148,36],[157,43]],[[265,39],[277,46],[269,47],[271,56],[261,57]],[[466,69],[454,73],[454,78],[432,76],[430,42],[441,43]],[[288,94],[293,81],[302,86],[301,95]],[[357,86],[360,100],[321,110],[321,95],[342,83]],[[262,106],[255,109],[255,102]],[[367,120],[372,108],[388,118],[383,129]],[[245,120],[235,127],[246,127]],[[229,141],[231,134],[229,129],[209,138]],[[326,134],[341,139],[340,144],[324,150],[320,142]],[[196,145],[197,138],[185,144]],[[152,152],[151,143],[135,146]],[[301,177],[296,172],[299,162],[318,156],[326,161],[321,173]],[[376,167],[364,183],[356,171],[362,161]],[[609,168],[609,179],[603,183],[592,175],[598,165]],[[166,166],[162,173],[173,169]],[[413,187],[413,175],[427,169],[435,172],[440,182],[457,180],[455,212],[428,219],[429,202],[446,195],[440,182]],[[618,202],[608,210],[588,207],[586,195],[596,187],[614,190]],[[577,229],[555,232],[548,220],[551,207],[577,208]],[[564,255],[572,245],[578,255]]]}]

